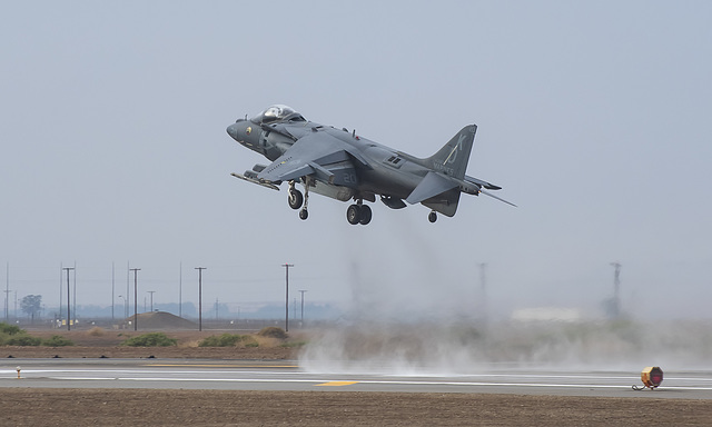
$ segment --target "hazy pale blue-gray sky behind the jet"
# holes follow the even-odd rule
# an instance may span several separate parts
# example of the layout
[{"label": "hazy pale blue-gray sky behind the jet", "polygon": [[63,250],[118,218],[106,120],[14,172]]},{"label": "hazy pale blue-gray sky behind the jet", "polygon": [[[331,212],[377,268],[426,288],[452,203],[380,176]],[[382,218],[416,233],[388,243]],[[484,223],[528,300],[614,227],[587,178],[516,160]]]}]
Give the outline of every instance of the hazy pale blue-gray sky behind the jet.
[{"label": "hazy pale blue-gray sky behind the jet", "polygon": [[[16,1],[0,7],[0,276],[57,305],[310,302],[502,317],[531,307],[710,318],[705,1]],[[478,126],[454,218],[236,180],[229,138],[285,103],[427,157]],[[486,264],[486,291],[481,264]],[[113,266],[113,275],[112,275]],[[4,280],[2,280],[4,279]],[[131,278],[132,279],[132,278]],[[72,279],[73,280],[73,279]],[[117,304],[119,300],[116,300]]]}]

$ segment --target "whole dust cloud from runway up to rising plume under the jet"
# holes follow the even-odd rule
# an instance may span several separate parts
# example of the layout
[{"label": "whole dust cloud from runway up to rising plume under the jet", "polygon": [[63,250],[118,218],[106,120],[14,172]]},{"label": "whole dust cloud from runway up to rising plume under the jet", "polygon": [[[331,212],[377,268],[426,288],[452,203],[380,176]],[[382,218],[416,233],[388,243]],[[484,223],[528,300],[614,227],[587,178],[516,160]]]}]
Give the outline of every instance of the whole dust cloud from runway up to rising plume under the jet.
[{"label": "whole dust cloud from runway up to rising plume under the jet", "polygon": [[[349,236],[354,245],[345,276],[350,306],[337,321],[314,330],[299,355],[303,368],[394,375],[467,375],[531,367],[709,369],[709,318],[639,319],[625,311],[611,316],[605,309],[591,310],[596,305],[591,301],[584,301],[589,306],[568,301],[565,307],[576,316],[515,316],[517,307],[487,305],[476,262],[453,261],[459,252],[433,245],[437,236],[428,232],[435,231],[419,231],[423,228],[412,220],[400,216],[389,225],[400,246],[387,255],[369,247],[366,238]],[[517,287],[508,284],[507,289]],[[535,294],[523,288],[510,298],[523,301],[520,308],[527,307],[526,292]],[[555,297],[552,300],[561,300]]]}]

